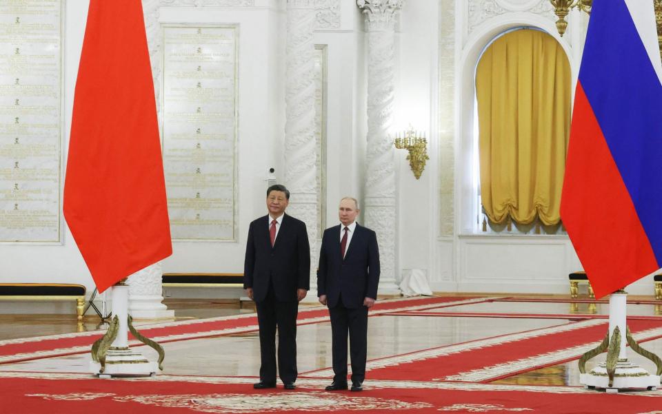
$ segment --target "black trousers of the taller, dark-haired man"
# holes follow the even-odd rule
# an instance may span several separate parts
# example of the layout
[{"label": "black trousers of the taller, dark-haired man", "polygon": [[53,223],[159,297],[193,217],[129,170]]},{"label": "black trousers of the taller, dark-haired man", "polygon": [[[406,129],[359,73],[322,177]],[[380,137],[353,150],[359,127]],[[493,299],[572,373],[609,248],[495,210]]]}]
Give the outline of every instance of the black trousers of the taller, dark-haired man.
[{"label": "black trousers of the taller, dark-haired man", "polygon": [[276,382],[276,328],[278,327],[278,373],[283,383],[297,380],[297,313],[299,302],[280,302],[270,284],[257,307],[260,328],[260,381]]}]

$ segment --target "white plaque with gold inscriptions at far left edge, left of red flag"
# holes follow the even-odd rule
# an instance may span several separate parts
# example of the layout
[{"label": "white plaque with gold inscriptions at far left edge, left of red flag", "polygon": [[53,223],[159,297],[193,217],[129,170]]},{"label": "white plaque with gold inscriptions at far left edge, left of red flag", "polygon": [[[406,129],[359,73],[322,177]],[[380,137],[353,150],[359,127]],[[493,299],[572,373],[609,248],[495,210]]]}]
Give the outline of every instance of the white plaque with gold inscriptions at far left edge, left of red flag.
[{"label": "white plaque with gold inscriptions at far left edge, left of red flag", "polygon": [[0,1],[0,242],[60,242],[61,0]]}]

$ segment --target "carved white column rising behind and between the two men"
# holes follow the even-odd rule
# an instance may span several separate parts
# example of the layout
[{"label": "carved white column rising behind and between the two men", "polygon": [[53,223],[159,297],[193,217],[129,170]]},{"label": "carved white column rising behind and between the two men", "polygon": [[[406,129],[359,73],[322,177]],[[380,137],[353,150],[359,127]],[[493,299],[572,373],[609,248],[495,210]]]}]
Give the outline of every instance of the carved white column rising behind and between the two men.
[{"label": "carved white column rising behind and between the two men", "polygon": [[314,0],[288,0],[287,86],[285,90],[285,185],[288,214],[305,222],[310,242],[310,291],[317,302],[317,142],[312,41]]}]

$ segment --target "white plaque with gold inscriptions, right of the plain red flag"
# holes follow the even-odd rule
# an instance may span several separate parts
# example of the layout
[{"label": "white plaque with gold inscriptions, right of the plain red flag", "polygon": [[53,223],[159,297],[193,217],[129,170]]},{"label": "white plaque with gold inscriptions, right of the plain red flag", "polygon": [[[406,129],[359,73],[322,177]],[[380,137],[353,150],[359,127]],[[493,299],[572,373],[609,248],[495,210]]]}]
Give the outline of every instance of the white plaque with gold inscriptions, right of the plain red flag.
[{"label": "white plaque with gold inscriptions, right of the plain red flag", "polygon": [[163,27],[172,240],[236,240],[237,26]]}]

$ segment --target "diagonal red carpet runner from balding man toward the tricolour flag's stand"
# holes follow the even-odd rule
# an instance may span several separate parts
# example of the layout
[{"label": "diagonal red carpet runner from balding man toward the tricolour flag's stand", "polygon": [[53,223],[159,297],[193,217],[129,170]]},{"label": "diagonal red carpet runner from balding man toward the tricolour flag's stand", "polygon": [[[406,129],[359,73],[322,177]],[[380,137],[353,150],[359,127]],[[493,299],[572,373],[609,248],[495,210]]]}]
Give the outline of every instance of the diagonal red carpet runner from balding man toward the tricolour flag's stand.
[{"label": "diagonal red carpet runner from balding man toward the tricolour flag's stand", "polygon": [[[662,337],[662,322],[632,320],[629,324],[635,337],[654,329],[645,339],[636,338],[639,342]],[[579,358],[603,340],[607,329],[608,321],[575,322],[371,360],[366,369],[375,380],[488,382]],[[332,371],[305,375],[329,377]]]}]

